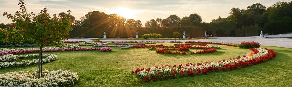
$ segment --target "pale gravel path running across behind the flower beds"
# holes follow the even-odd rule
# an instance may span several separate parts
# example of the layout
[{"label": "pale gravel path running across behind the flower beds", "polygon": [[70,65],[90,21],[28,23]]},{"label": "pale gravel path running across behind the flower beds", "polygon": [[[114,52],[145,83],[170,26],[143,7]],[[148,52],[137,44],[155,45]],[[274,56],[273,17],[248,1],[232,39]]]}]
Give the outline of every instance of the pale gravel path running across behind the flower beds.
[{"label": "pale gravel path running across behind the flower beds", "polygon": [[[254,37],[216,37],[217,39],[199,39],[199,40],[179,40],[185,41],[209,41],[209,42],[224,42],[224,43],[240,43],[243,41],[255,41],[261,43],[262,46],[278,46],[292,48],[292,39],[288,38],[260,38],[258,36]],[[69,41],[91,41],[92,39],[98,38],[82,38],[82,39],[69,39]],[[101,41],[165,41],[170,42],[172,40],[101,40]]]}]

